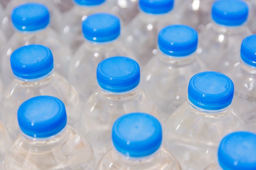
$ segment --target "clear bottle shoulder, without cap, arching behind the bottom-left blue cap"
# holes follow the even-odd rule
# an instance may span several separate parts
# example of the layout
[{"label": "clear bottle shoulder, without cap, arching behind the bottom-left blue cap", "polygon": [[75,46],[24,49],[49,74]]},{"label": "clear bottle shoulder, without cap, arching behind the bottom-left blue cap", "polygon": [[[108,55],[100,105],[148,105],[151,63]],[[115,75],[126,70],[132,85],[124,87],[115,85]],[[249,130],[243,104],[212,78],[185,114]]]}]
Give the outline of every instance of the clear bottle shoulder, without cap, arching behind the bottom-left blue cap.
[{"label": "clear bottle shoulder, without cap, arching behind the bottom-left blue cap", "polygon": [[11,141],[19,134],[18,107],[25,100],[39,95],[50,95],[61,99],[67,110],[68,124],[76,128],[81,111],[79,95],[63,76],[53,72],[44,79],[32,82],[14,79],[5,91],[0,106],[3,124],[9,132]]}]

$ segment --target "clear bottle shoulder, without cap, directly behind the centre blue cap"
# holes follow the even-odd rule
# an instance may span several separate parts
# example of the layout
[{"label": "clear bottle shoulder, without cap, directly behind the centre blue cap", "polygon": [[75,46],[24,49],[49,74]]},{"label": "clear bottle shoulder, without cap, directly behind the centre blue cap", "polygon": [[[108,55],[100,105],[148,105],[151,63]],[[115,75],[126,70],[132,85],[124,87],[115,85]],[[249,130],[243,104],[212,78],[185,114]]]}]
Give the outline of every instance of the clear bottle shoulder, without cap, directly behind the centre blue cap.
[{"label": "clear bottle shoulder, without cap, directly behind the centre blue cap", "polygon": [[[82,101],[97,89],[96,71],[101,60],[112,56],[135,59],[119,39],[108,43],[93,43],[85,40],[70,62],[68,80],[79,92]],[[136,60],[136,59],[135,59]]]}]

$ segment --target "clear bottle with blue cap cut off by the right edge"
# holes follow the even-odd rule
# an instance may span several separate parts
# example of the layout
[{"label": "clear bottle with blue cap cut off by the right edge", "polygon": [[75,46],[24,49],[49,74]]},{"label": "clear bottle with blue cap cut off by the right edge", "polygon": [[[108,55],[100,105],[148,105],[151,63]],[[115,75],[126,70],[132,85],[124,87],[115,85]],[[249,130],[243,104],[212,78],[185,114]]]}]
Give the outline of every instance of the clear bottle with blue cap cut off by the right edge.
[{"label": "clear bottle with blue cap cut off by the right edge", "polygon": [[235,86],[232,106],[249,130],[256,132],[256,35],[245,38],[240,49],[240,62],[229,75]]}]

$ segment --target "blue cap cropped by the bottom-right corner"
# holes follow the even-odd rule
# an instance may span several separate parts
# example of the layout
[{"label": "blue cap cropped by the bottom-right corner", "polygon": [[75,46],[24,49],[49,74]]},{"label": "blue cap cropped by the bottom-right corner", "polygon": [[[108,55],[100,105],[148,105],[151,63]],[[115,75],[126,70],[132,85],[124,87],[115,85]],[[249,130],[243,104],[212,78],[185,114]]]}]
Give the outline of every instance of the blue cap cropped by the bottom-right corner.
[{"label": "blue cap cropped by the bottom-right corner", "polygon": [[218,161],[223,170],[256,170],[256,134],[234,132],[222,139]]}]

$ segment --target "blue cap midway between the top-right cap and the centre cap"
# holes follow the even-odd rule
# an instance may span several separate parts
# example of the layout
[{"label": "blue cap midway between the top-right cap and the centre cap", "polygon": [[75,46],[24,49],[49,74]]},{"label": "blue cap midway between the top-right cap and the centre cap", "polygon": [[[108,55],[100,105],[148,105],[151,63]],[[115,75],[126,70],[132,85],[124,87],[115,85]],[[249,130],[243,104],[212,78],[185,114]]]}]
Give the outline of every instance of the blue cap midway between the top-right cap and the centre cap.
[{"label": "blue cap midway between the top-right cap and the centre cap", "polygon": [[184,57],[195,52],[198,33],[186,25],[166,26],[159,32],[158,45],[166,55]]}]

